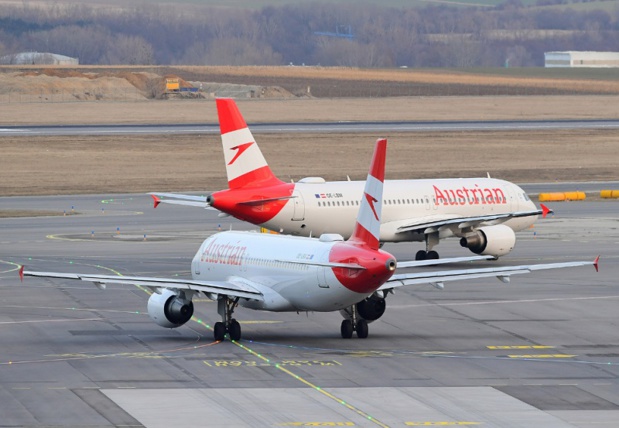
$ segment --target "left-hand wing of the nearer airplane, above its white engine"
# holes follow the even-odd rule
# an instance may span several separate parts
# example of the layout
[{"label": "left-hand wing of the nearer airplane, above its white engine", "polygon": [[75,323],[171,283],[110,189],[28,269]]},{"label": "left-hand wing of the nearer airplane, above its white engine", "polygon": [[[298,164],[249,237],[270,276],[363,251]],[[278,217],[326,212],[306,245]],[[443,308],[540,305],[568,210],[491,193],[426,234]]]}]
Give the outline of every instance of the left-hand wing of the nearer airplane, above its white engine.
[{"label": "left-hand wing of the nearer airplane, above its white engine", "polygon": [[80,273],[61,273],[61,272],[33,272],[25,271],[23,266],[19,272],[23,279],[25,276],[39,278],[59,278],[89,281],[99,288],[105,288],[105,284],[130,284],[148,287],[153,292],[159,293],[161,288],[203,291],[205,293],[225,294],[231,297],[242,299],[263,300],[262,293],[254,287],[233,281],[199,281],[171,278],[149,278],[140,276],[116,276],[116,275],[95,275]]}]

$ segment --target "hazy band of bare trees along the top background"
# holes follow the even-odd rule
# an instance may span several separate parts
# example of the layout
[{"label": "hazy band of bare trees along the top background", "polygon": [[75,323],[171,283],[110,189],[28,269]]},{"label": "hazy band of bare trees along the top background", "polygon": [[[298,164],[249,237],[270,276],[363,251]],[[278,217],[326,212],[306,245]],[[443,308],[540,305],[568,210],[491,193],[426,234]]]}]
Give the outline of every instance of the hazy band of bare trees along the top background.
[{"label": "hazy band of bare trees along the top background", "polygon": [[546,51],[617,50],[619,9],[538,1],[553,6],[2,5],[0,56],[52,52],[97,65],[529,67],[543,66]]}]

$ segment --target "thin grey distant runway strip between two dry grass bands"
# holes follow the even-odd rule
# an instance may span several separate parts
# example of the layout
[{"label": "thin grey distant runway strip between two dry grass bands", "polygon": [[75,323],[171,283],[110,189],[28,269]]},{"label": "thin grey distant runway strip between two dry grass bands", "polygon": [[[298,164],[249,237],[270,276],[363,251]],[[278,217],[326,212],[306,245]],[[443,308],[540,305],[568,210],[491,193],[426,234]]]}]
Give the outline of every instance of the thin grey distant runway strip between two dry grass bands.
[{"label": "thin grey distant runway strip between two dry grass bands", "polygon": [[[618,120],[250,123],[253,133],[617,129]],[[219,134],[217,124],[4,126],[0,136]]]}]

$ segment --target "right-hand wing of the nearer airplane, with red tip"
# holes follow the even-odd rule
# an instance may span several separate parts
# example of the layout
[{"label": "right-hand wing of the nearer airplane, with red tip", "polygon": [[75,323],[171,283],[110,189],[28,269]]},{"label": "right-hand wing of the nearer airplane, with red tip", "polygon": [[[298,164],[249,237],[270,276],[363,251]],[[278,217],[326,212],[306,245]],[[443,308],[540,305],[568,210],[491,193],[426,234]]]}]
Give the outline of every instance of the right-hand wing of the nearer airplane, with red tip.
[{"label": "right-hand wing of the nearer airplane, with red tip", "polygon": [[393,275],[379,290],[391,290],[404,285],[430,284],[436,288],[443,289],[444,283],[448,281],[461,281],[464,279],[497,277],[502,282],[509,282],[512,275],[531,273],[537,270],[563,269],[569,267],[592,265],[598,270],[600,257],[593,261],[574,261],[563,263],[542,263],[533,265],[519,266],[497,266],[491,268],[475,268],[445,271],[415,272]]}]

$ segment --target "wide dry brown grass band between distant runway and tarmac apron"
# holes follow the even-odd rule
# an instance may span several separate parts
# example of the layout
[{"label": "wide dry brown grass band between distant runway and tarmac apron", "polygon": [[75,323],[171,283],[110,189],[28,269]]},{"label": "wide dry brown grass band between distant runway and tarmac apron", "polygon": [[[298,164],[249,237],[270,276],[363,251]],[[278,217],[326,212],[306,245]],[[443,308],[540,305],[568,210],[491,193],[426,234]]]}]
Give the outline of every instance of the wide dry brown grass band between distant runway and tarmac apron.
[{"label": "wide dry brown grass band between distant runway and tarmac apron", "polygon": [[[261,134],[283,180],[363,179],[372,134]],[[515,182],[617,180],[617,131],[391,134],[387,177],[485,176]],[[583,144],[586,142],[586,144]],[[225,188],[218,136],[0,139],[0,195],[205,191]],[[351,155],[354,154],[354,155]]]}]

